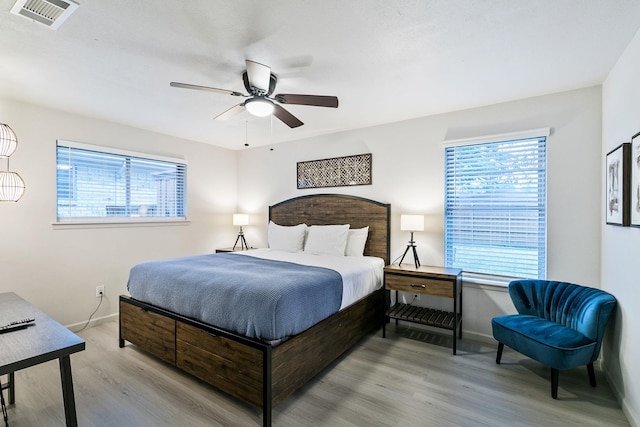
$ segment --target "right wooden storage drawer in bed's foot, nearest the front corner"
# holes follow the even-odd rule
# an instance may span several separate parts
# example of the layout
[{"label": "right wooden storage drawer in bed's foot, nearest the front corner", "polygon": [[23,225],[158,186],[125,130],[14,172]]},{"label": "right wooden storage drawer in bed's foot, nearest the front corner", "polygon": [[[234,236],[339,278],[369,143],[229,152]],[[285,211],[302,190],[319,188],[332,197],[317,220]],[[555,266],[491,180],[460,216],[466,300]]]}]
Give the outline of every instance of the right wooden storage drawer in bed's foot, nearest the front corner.
[{"label": "right wooden storage drawer in bed's foot, nearest the front corner", "polygon": [[176,366],[258,408],[262,407],[262,352],[176,322]]}]

